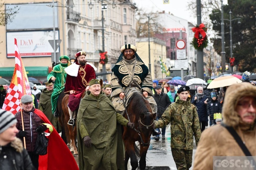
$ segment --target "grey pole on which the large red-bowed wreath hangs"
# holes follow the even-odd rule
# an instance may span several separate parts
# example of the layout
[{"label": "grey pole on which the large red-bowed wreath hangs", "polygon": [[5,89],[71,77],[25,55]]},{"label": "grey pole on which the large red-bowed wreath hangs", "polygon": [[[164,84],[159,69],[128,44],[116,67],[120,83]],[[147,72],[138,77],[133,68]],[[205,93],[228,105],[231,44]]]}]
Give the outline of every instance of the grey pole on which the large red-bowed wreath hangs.
[{"label": "grey pole on which the large red-bowed wreath hangs", "polygon": [[[201,24],[201,0],[196,0],[197,25]],[[196,50],[196,77],[203,79],[203,50]]]}]

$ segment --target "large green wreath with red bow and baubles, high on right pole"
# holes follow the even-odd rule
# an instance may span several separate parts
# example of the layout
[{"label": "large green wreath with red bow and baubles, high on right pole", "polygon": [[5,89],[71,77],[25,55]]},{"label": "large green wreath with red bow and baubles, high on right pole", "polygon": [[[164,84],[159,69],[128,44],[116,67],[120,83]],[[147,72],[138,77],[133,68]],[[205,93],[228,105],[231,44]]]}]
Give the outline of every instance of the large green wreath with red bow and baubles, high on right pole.
[{"label": "large green wreath with red bow and baubles, high on right pole", "polygon": [[205,28],[204,24],[201,23],[199,26],[192,28],[192,31],[195,33],[192,44],[195,49],[203,50],[203,48],[207,47],[208,39],[205,32],[207,32],[207,28]]}]

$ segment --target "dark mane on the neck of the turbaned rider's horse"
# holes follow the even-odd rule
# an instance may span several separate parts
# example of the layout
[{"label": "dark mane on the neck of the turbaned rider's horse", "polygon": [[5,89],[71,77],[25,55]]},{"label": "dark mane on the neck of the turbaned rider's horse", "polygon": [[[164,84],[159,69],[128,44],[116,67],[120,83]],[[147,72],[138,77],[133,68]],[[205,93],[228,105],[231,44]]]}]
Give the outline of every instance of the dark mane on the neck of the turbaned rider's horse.
[{"label": "dark mane on the neck of the turbaned rider's horse", "polygon": [[133,103],[133,108],[137,111],[137,113],[141,114],[150,112],[150,104],[141,93],[134,93],[131,97],[131,101]]}]

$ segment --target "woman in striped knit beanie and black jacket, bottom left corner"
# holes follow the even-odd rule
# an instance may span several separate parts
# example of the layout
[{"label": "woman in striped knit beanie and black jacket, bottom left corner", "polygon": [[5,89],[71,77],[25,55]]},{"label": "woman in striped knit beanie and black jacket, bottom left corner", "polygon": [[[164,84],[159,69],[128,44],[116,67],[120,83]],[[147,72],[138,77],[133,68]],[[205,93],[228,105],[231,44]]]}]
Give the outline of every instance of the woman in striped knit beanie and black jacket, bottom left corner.
[{"label": "woman in striped knit beanie and black jacket, bottom left corner", "polygon": [[16,137],[16,123],[11,112],[0,109],[0,169],[34,170],[27,151]]}]

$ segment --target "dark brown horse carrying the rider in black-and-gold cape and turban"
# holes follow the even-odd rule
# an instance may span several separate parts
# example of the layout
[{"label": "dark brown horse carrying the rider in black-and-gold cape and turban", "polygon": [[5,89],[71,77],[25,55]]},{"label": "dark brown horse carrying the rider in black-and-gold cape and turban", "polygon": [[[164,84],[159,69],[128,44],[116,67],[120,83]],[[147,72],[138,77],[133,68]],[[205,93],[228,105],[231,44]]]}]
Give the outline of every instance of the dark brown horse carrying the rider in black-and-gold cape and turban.
[{"label": "dark brown horse carrying the rider in black-and-gold cape and turban", "polygon": [[138,147],[135,144],[136,141],[140,142],[139,165],[140,169],[144,170],[146,168],[146,154],[150,145],[150,136],[154,127],[156,113],[152,114],[148,100],[141,93],[134,93],[130,101],[126,107],[127,113],[124,113],[124,117],[130,120],[130,122],[135,123],[136,128],[130,129],[123,126],[124,131],[122,137],[125,146],[125,170],[127,170],[129,158],[131,158],[132,170],[136,170],[138,167],[136,156]]}]

